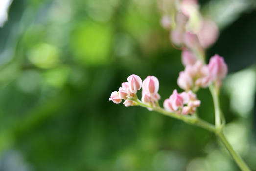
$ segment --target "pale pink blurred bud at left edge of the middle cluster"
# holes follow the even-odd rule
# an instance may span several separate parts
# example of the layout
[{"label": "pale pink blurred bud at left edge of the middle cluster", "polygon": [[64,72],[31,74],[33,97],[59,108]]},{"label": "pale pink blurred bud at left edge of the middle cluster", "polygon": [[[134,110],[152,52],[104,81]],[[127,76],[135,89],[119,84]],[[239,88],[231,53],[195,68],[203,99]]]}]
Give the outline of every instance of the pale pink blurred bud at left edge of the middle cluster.
[{"label": "pale pink blurred bud at left edge of the middle cluster", "polygon": [[185,71],[181,71],[177,80],[177,84],[181,89],[190,90],[193,86],[192,77]]}]

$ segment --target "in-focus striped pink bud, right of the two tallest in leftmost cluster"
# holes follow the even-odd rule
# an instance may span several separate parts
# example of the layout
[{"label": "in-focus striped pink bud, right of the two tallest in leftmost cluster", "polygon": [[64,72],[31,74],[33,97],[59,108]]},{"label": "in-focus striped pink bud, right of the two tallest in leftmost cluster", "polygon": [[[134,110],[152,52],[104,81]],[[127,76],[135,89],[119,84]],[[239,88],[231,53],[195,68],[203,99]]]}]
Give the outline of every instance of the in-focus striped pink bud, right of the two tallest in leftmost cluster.
[{"label": "in-focus striped pink bud, right of the two tallest in leftmost cluster", "polygon": [[142,83],[142,89],[146,94],[156,94],[158,92],[159,82],[155,76],[147,76]]}]

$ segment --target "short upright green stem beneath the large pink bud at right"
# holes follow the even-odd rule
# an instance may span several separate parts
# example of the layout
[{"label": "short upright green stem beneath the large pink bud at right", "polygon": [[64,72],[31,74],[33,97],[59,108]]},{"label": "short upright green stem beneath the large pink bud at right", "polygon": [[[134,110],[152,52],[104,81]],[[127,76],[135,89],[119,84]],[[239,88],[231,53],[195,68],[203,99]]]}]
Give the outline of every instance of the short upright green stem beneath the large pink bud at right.
[{"label": "short upright green stem beneath the large pink bud at right", "polygon": [[211,92],[213,103],[214,103],[214,110],[215,110],[215,126],[219,128],[221,126],[221,112],[219,107],[219,95],[217,90],[213,85],[209,86],[209,90]]}]

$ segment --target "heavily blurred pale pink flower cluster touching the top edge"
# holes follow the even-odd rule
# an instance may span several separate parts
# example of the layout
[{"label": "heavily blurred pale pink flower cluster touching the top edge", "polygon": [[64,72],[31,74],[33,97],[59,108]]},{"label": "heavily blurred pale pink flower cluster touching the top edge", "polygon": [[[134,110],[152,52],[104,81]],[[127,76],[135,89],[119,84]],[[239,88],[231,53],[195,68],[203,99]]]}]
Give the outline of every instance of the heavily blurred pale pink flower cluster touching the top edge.
[{"label": "heavily blurred pale pink flower cluster touching the top edge", "polygon": [[216,42],[219,29],[213,21],[201,15],[197,0],[158,1],[164,13],[160,24],[164,29],[171,30],[173,43],[199,50]]}]

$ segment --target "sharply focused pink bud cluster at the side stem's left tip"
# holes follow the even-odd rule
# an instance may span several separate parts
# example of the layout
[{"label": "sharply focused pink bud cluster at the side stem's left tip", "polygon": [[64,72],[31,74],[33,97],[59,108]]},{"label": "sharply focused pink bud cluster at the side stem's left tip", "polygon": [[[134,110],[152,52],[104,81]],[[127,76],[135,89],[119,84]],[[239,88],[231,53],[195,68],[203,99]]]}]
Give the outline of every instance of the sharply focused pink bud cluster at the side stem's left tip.
[{"label": "sharply focused pink bud cluster at the side stem's left tip", "polygon": [[[157,106],[157,102],[160,99],[158,94],[159,82],[154,76],[148,76],[143,82],[138,75],[130,75],[127,78],[128,82],[122,83],[119,91],[114,91],[111,93],[109,98],[110,101],[114,103],[121,103],[122,99],[126,107],[134,105],[134,102],[129,99],[137,98],[136,93],[142,87],[142,102],[150,104],[153,107]],[[129,99],[127,99],[129,98]]]}]

